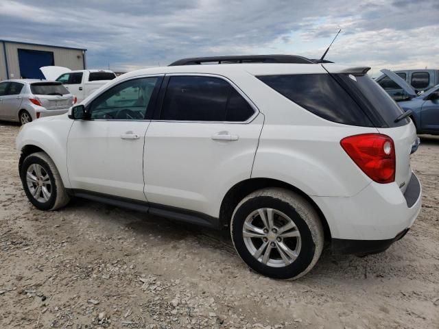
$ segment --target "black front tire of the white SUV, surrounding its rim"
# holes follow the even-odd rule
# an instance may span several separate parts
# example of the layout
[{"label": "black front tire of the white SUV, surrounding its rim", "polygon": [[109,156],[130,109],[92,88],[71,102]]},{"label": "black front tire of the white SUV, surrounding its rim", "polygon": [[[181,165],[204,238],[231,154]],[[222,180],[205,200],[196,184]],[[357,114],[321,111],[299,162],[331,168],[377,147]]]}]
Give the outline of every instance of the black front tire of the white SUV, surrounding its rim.
[{"label": "black front tire of the white SUV, surrounding its rim", "polygon": [[[42,167],[45,177],[49,177],[50,189],[46,191],[50,192],[50,197],[48,197],[47,200],[42,200],[42,192],[38,193],[38,199],[37,197],[34,197],[34,195],[32,195],[29,184],[32,184],[32,188],[34,188],[34,191],[36,191],[35,187],[37,187],[38,184],[32,182],[28,184],[27,182],[27,169],[29,169],[34,164]],[[58,173],[58,169],[56,169],[55,164],[51,160],[51,158],[49,158],[49,156],[47,156],[47,154],[45,154],[44,152],[30,154],[25,158],[21,166],[20,177],[27,199],[29,199],[29,201],[34,206],[36,206],[36,208],[40,210],[56,210],[69,203],[70,197],[69,195],[67,195],[64,184],[62,184],[60,173]]]}]

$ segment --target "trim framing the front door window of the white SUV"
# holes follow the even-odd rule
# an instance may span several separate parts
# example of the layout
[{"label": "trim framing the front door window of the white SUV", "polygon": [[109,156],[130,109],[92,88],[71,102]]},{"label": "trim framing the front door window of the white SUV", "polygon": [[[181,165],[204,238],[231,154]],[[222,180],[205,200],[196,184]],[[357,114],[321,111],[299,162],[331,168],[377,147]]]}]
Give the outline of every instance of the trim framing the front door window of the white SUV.
[{"label": "trim framing the front door window of the white SUV", "polygon": [[[146,117],[145,119],[86,119],[85,121],[110,121],[110,122],[118,122],[118,121],[130,121],[130,122],[135,122],[135,121],[141,121],[141,122],[150,122],[152,120],[152,116],[153,114],[156,112],[156,107],[158,104],[158,94],[160,93],[162,84],[163,84],[163,77],[165,77],[164,74],[152,74],[152,75],[137,75],[135,77],[128,77],[124,80],[119,80],[116,84],[111,84],[110,86],[108,86],[107,88],[105,88],[104,90],[102,90],[102,93],[99,93],[99,95],[96,95],[96,97],[94,97],[93,99],[91,99],[90,101],[88,101],[86,104],[84,104],[86,111],[89,110],[91,104],[93,103],[93,101],[95,101],[95,99],[97,99],[99,96],[103,95],[104,93],[106,93],[108,90],[112,89],[115,86],[118,86],[119,84],[123,84],[125,82],[128,82],[130,80],[138,80],[138,79],[143,79],[145,77],[157,77],[157,84],[154,88],[154,91],[152,92],[151,95],[151,99],[152,99],[152,103],[151,103],[151,110],[146,112]],[[82,120],[82,119],[81,119]]]}]

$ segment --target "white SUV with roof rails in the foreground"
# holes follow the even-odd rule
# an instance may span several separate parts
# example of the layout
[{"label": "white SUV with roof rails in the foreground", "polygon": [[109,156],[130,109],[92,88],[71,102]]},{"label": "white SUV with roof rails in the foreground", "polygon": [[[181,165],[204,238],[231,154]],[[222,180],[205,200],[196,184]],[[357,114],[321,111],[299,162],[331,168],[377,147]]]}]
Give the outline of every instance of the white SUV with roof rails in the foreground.
[{"label": "white SUV with roof rails in the foreground", "polygon": [[75,196],[228,228],[272,278],[303,276],[325,240],[381,252],[420,210],[418,138],[367,71],[233,56],[121,75],[68,116],[23,127],[25,193],[43,210]]}]

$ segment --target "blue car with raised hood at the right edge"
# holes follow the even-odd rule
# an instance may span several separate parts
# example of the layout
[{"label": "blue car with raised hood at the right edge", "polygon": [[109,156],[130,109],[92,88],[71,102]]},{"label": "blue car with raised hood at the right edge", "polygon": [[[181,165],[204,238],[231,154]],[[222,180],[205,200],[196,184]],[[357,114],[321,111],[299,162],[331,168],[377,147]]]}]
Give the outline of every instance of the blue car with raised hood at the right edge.
[{"label": "blue car with raised hood at the right edge", "polygon": [[439,134],[439,84],[427,89],[423,93],[416,90],[392,71],[382,70],[407,95],[406,101],[400,101],[398,105],[407,112],[410,110],[410,119],[416,126],[418,134]]}]

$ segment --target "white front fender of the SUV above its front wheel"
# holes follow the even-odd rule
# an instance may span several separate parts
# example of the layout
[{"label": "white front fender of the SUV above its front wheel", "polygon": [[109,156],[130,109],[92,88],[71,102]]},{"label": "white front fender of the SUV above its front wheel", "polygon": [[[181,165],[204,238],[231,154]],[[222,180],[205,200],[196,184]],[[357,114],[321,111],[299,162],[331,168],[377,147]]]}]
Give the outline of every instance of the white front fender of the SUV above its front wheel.
[{"label": "white front fender of the SUV above its front wheel", "polygon": [[16,149],[21,153],[26,146],[36,146],[54,161],[64,187],[70,188],[67,171],[67,137],[73,120],[67,114],[38,119],[23,126],[16,137]]}]

